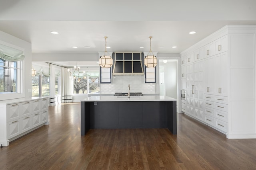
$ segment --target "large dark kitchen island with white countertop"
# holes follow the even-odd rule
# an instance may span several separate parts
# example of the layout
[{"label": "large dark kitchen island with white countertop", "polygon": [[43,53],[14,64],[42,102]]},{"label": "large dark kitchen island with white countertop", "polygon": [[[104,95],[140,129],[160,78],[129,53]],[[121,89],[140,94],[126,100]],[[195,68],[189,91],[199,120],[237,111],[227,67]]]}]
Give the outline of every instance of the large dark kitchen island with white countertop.
[{"label": "large dark kitchen island with white countertop", "polygon": [[167,128],[177,134],[176,99],[90,96],[81,101],[81,135],[89,129]]}]

